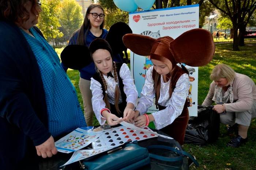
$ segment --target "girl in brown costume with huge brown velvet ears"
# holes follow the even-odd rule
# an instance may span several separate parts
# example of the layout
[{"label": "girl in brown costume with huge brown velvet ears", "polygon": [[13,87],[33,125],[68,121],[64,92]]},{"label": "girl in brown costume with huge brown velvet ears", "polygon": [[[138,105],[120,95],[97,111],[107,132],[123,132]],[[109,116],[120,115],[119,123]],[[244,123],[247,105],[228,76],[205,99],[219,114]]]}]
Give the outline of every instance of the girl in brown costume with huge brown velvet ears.
[{"label": "girl in brown costume with huge brown velvet ears", "polygon": [[[175,40],[169,36],[154,39],[144,35],[126,34],[123,41],[128,49],[136,54],[149,56],[153,63],[146,74],[141,97],[135,109],[135,125],[143,127],[154,121],[158,130],[183,144],[188,123],[185,101],[189,76],[185,67],[179,67],[177,63],[189,66],[209,63],[215,51],[211,33],[198,28],[183,33]],[[153,105],[154,97],[159,111],[147,115],[145,113]]]}]

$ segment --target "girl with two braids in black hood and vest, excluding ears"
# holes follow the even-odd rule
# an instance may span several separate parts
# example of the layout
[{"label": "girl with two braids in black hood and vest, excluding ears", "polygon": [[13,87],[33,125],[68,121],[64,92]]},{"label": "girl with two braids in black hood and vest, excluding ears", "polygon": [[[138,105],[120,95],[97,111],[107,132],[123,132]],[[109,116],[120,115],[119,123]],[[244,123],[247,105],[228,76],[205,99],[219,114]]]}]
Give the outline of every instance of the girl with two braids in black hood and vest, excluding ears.
[{"label": "girl with two braids in black hood and vest, excluding ears", "polygon": [[119,117],[129,121],[134,117],[138,92],[129,67],[113,62],[112,49],[105,39],[95,39],[89,46],[97,73],[91,78],[93,111],[102,125],[119,123]]}]

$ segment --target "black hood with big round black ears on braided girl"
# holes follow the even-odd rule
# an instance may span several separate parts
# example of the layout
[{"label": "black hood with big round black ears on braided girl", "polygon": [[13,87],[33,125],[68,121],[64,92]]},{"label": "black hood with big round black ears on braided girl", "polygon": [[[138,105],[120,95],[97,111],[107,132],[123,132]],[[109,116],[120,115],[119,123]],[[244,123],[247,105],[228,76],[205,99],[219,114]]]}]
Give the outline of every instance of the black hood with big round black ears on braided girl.
[{"label": "black hood with big round black ears on braided girl", "polygon": [[110,48],[105,40],[98,40],[100,38],[93,40],[94,43],[91,42],[89,48],[82,45],[69,45],[65,47],[60,54],[61,62],[68,68],[74,70],[82,69],[83,67],[93,62],[90,56],[90,52],[91,50],[94,52],[95,49],[106,49],[109,52],[112,51],[110,54],[112,54],[113,57],[113,55],[119,54],[127,49],[123,43],[122,38],[125,34],[128,33],[132,33],[132,30],[127,24],[123,22],[115,23],[110,27],[106,36],[106,41],[109,43]]}]

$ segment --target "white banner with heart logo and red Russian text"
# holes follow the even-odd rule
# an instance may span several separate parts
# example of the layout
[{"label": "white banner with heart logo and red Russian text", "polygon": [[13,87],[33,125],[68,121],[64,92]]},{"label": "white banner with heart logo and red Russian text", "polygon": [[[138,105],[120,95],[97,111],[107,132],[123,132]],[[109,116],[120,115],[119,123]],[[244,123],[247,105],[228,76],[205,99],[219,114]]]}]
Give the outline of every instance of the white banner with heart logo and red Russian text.
[{"label": "white banner with heart logo and red Russian text", "polygon": [[[129,13],[129,26],[134,34],[147,35],[156,39],[170,36],[175,39],[185,31],[199,28],[199,5],[132,12]],[[131,51],[131,73],[139,97],[144,86],[147,70],[151,65],[151,60],[147,56],[137,55]],[[190,81],[187,97],[190,101],[189,116],[197,116],[198,67],[188,65],[185,65],[185,67],[189,71]],[[156,111],[155,105],[148,109],[148,113]]]}]

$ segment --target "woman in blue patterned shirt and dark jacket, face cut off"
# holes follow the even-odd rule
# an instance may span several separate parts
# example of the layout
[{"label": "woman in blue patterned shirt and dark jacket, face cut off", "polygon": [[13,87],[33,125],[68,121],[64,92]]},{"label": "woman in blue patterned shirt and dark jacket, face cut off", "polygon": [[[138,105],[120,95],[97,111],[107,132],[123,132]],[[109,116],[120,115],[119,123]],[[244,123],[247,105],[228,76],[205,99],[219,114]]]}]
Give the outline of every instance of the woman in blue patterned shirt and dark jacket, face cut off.
[{"label": "woman in blue patterned shirt and dark jacket, face cut off", "polygon": [[54,140],[86,126],[57,53],[34,27],[41,11],[39,0],[0,0],[1,170],[38,169],[37,155],[52,157]]}]

